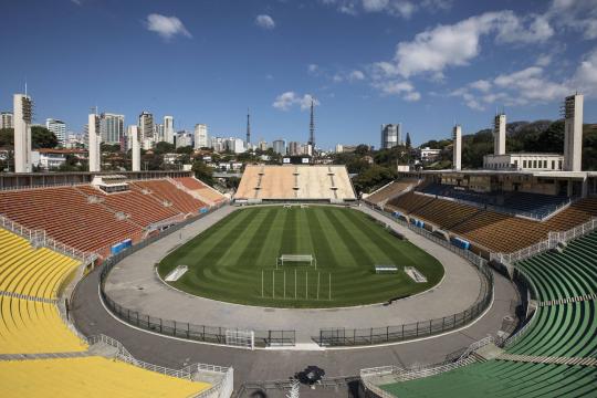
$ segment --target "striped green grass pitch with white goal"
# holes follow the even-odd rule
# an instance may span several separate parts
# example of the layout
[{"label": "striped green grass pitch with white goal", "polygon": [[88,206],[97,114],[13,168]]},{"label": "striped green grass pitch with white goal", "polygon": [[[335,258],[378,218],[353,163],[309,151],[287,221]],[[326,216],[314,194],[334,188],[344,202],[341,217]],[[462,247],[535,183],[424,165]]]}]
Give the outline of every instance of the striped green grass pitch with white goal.
[{"label": "striped green grass pitch with white goal", "polygon": [[[281,254],[312,254],[317,269],[289,263],[276,270]],[[375,264],[395,264],[399,271],[376,274]],[[332,206],[237,210],[168,254],[158,272],[164,279],[177,265],[189,266],[170,282],[179,290],[273,307],[381,303],[428,290],[443,276],[439,261],[427,252],[360,211]],[[428,282],[415,283],[402,271],[408,265]]]}]

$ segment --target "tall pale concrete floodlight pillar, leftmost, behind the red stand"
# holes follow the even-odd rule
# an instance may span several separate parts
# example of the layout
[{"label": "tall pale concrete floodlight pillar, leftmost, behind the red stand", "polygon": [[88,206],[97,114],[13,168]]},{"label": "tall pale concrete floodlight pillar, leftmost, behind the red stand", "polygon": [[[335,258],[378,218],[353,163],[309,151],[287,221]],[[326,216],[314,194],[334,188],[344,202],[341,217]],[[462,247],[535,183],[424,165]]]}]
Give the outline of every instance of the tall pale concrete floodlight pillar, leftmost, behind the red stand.
[{"label": "tall pale concrete floodlight pillar, leftmost, behind the red stand", "polygon": [[31,172],[31,116],[33,102],[24,94],[13,96],[14,172]]}]

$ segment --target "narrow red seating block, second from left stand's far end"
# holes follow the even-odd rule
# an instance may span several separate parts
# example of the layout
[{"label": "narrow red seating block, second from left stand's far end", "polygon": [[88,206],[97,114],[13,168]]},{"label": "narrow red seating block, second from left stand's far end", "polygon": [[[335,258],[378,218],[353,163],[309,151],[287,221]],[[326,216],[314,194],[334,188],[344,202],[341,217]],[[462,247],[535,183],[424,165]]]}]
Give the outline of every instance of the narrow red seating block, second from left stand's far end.
[{"label": "narrow red seating block, second from left stand's far end", "polygon": [[197,214],[207,205],[165,179],[130,181],[132,189],[149,195],[161,203],[169,203],[177,212]]}]

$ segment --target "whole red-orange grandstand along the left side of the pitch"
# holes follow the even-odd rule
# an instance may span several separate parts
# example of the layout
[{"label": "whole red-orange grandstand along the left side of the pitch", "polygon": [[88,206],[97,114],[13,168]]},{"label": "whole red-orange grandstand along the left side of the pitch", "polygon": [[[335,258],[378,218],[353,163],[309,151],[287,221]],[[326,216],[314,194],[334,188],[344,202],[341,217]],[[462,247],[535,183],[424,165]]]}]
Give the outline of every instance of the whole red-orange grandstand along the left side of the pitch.
[{"label": "whole red-orange grandstand along the left side of the pitch", "polygon": [[[83,252],[109,254],[123,241],[221,206],[226,197],[192,177],[128,180],[117,190],[91,185],[0,191],[0,212],[14,222]],[[195,189],[187,188],[192,186]],[[206,201],[199,198],[208,198]],[[212,205],[213,203],[213,205]]]}]

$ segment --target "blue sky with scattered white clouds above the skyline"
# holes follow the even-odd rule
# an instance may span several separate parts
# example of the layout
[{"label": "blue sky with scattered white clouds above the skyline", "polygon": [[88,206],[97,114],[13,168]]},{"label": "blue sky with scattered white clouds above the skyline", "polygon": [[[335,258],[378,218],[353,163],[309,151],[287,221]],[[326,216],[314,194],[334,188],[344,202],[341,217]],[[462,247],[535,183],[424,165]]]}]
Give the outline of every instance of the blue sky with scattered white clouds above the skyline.
[{"label": "blue sky with scattered white clouds above the skyline", "polygon": [[82,130],[91,106],[135,124],[147,109],[210,135],[379,146],[509,121],[556,118],[585,94],[597,122],[597,0],[7,1],[0,109],[24,82],[35,122]]}]

